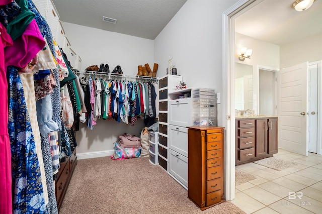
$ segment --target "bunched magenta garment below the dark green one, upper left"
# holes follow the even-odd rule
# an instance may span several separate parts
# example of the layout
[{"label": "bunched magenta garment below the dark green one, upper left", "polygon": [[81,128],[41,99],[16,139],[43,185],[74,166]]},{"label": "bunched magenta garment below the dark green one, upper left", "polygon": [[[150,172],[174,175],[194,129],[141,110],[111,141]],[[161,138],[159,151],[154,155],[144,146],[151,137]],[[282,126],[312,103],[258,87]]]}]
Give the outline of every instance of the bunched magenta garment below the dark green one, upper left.
[{"label": "bunched magenta garment below the dark green one, upper left", "polygon": [[46,45],[36,20],[27,26],[21,37],[15,40],[14,45],[5,48],[6,67],[9,65],[24,68]]}]

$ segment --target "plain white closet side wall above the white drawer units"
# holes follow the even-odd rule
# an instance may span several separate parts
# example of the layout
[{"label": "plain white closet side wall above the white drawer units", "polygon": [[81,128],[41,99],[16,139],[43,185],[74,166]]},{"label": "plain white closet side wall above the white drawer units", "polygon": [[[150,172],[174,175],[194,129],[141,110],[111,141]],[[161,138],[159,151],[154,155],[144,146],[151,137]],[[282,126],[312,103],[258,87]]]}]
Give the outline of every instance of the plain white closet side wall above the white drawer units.
[{"label": "plain white closet side wall above the white drawer units", "polygon": [[[154,40],[157,76],[166,75],[168,60],[187,87],[210,87],[222,93],[222,13],[237,0],[188,0]],[[226,97],[222,97],[222,100]],[[222,125],[218,104],[218,125]]]}]

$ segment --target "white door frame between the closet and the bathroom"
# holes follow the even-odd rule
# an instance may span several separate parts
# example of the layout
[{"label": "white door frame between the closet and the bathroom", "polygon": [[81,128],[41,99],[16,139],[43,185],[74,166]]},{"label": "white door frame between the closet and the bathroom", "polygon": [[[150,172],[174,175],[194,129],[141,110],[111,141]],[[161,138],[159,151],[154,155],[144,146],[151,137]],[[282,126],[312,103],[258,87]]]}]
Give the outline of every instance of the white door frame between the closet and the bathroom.
[{"label": "white door frame between the closet and the bathroom", "polygon": [[222,123],[225,127],[224,195],[226,200],[235,198],[234,19],[262,1],[264,0],[239,0],[222,13],[222,118],[226,119]]}]

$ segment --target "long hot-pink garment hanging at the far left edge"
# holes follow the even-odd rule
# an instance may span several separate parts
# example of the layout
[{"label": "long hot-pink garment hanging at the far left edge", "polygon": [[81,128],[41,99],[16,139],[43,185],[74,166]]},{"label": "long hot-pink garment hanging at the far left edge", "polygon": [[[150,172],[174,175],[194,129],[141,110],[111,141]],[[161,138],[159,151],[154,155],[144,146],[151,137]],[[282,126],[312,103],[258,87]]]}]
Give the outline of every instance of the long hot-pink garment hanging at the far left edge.
[{"label": "long hot-pink garment hanging at the far left edge", "polygon": [[12,213],[11,149],[8,135],[8,83],[4,48],[13,45],[6,28],[0,24],[0,213]]}]

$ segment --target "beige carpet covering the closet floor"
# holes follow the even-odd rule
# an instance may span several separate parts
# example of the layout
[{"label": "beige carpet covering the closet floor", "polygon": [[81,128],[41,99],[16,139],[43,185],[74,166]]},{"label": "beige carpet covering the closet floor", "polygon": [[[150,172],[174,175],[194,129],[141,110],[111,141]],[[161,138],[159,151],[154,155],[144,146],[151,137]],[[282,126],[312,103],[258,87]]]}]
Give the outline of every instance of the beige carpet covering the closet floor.
[{"label": "beige carpet covering the closet floor", "polygon": [[59,211],[89,213],[245,213],[231,202],[204,211],[188,191],[148,158],[79,160]]}]

